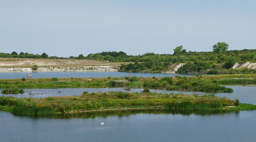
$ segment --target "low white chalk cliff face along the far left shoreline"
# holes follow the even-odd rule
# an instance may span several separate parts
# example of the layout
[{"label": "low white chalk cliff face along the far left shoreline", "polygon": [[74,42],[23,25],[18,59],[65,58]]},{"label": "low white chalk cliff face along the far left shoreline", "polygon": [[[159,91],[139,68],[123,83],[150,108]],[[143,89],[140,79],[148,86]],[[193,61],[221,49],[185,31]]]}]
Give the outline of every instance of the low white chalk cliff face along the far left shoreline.
[{"label": "low white chalk cliff face along the far left shoreline", "polygon": [[36,71],[32,68],[0,68],[0,72],[113,72],[118,71],[114,69],[115,66],[87,66],[87,67],[38,67]]}]

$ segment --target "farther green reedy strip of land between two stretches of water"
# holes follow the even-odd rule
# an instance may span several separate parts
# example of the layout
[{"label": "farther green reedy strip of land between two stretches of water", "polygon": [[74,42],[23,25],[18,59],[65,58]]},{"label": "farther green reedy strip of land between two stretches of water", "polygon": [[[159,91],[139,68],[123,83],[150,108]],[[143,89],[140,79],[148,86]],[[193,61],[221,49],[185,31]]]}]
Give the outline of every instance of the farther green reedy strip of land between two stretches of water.
[{"label": "farther green reedy strip of land between two stretches of water", "polygon": [[[232,77],[232,75],[230,75]],[[45,79],[1,79],[1,88],[31,88],[31,87],[80,87],[80,88],[150,88],[178,91],[201,91],[212,93],[232,93],[231,88],[220,86],[218,76],[192,76],[192,77],[106,77],[106,78],[45,78]],[[248,79],[251,80],[251,79]],[[245,83],[245,82],[242,82]],[[227,84],[230,84],[228,82]]]}]

